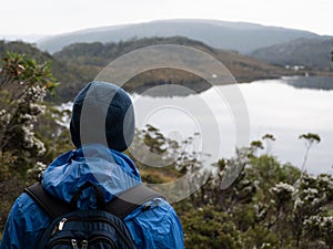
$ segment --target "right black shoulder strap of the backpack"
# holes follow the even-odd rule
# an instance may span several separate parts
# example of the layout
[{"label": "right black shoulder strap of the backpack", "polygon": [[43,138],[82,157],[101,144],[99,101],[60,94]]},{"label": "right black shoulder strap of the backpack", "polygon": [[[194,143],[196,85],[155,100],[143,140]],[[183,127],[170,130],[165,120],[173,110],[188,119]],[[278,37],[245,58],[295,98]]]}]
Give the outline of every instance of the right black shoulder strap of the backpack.
[{"label": "right black shoulder strap of the backpack", "polygon": [[164,197],[160,193],[141,184],[117,195],[105,205],[104,209],[123,219],[142,204],[153,198]]}]

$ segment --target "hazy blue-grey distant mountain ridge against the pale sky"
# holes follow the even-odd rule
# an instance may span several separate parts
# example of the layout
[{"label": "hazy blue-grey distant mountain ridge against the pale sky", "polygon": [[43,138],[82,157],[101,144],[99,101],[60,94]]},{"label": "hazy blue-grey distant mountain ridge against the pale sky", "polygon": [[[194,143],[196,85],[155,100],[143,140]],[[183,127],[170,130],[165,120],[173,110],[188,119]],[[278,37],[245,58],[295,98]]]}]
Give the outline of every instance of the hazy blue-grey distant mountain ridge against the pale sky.
[{"label": "hazy blue-grey distant mountain ridge against the pale sky", "polygon": [[186,37],[224,50],[249,54],[254,50],[290,42],[299,38],[320,38],[301,30],[265,27],[246,22],[216,20],[161,20],[139,24],[124,24],[81,30],[42,39],[38,48],[54,53],[67,45],[82,42],[119,42],[133,38]]}]

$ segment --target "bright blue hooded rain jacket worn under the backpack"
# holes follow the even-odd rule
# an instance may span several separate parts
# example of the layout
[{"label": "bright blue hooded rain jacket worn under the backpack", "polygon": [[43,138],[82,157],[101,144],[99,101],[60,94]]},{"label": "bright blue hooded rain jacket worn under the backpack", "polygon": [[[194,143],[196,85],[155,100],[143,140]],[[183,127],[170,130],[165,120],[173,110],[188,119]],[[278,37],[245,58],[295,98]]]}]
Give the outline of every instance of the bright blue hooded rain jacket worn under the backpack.
[{"label": "bright blue hooded rain jacket worn under the backpack", "polygon": [[[119,91],[114,85],[110,85],[107,87]],[[84,91],[80,94],[82,95],[82,93]],[[140,174],[133,162],[120,152],[127,148],[129,139],[125,138],[120,144],[115,143],[113,149],[113,146],[110,146],[113,142],[109,138],[110,136],[107,134],[108,146],[102,143],[83,144],[77,141],[77,144],[74,143],[78,146],[77,149],[60,155],[43,173],[42,186],[44,189],[52,196],[69,203],[84,183],[91,181],[102,189],[105,201],[109,201],[114,195],[141,184]],[[160,198],[149,201],[149,205],[150,209],[139,207],[123,220],[133,238],[135,248],[184,248],[181,224],[171,205]],[[82,191],[78,208],[97,208],[94,191],[91,188]],[[30,196],[21,194],[9,214],[0,249],[36,248],[51,221],[48,214]]]}]

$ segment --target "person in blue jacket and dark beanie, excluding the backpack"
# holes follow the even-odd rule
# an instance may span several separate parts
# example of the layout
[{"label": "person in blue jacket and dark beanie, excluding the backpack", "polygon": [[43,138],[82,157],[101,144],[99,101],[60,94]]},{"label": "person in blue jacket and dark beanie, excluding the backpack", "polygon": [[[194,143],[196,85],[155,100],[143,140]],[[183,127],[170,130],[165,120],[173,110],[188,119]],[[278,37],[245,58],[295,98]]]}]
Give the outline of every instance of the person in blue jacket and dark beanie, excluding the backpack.
[{"label": "person in blue jacket and dark beanie, excluding the backpack", "polygon": [[[70,122],[75,149],[56,158],[42,174],[43,189],[65,203],[87,181],[102,189],[105,203],[117,194],[142,184],[134,163],[123,152],[134,135],[134,112],[130,96],[107,82],[91,82],[77,95]],[[95,209],[95,193],[88,188],[77,208]],[[143,206],[149,206],[144,209]],[[172,206],[163,198],[149,200],[123,222],[135,248],[182,249],[183,231]],[[8,216],[0,249],[33,249],[51,217],[22,193]]]}]

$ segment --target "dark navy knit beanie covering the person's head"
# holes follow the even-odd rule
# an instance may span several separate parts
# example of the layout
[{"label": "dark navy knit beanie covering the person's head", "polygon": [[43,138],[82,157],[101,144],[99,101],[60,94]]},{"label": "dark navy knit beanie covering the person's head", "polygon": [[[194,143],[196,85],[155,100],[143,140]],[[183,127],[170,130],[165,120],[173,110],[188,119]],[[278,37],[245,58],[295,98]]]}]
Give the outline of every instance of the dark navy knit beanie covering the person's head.
[{"label": "dark navy knit beanie covering the person's head", "polygon": [[77,95],[70,132],[73,144],[104,144],[125,151],[134,135],[134,112],[130,96],[118,85],[91,82]]}]

